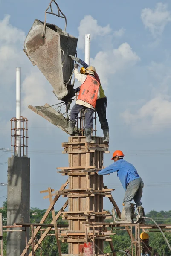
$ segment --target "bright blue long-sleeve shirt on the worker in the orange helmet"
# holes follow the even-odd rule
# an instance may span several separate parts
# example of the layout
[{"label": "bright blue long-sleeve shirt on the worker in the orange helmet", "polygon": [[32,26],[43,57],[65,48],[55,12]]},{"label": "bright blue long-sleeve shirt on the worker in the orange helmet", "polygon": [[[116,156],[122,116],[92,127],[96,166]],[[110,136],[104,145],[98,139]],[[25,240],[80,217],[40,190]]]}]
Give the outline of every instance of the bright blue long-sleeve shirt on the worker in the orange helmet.
[{"label": "bright blue long-sleeve shirt on the worker in the orange helmet", "polygon": [[112,172],[117,172],[117,176],[119,177],[120,182],[122,183],[123,188],[127,189],[127,184],[135,179],[139,179],[138,172],[136,171],[135,167],[125,161],[124,159],[120,159],[110,166],[102,169],[98,172],[99,175],[106,175]]}]

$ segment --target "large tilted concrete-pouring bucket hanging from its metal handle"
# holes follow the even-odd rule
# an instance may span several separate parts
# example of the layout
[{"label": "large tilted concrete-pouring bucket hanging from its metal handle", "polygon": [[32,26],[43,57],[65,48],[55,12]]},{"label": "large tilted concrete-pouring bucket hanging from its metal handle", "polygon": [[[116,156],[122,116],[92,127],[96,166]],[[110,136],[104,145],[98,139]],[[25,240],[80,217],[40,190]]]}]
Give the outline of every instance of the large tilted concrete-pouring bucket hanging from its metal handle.
[{"label": "large tilted concrete-pouring bucket hanging from its metal handle", "polygon": [[[52,11],[52,2],[58,8],[58,15]],[[51,12],[47,12],[49,7]],[[75,95],[70,85],[74,61],[69,55],[76,54],[78,39],[58,26],[46,23],[47,13],[62,17],[67,22],[58,4],[51,0],[45,12],[45,21],[34,21],[24,41],[24,52],[52,85],[58,100],[68,101]]]}]

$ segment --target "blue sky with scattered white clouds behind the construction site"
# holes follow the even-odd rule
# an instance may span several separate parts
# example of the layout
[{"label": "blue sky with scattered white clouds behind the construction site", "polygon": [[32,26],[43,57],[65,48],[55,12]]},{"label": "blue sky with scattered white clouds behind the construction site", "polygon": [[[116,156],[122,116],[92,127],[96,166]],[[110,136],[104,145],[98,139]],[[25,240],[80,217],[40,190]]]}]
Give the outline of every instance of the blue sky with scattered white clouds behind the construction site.
[{"label": "blue sky with scattered white clouds behind the construction site", "polygon": [[[0,148],[11,147],[10,119],[15,117],[16,67],[21,67],[22,110],[29,120],[31,160],[30,206],[46,209],[48,199],[41,190],[59,190],[66,176],[56,167],[68,166],[61,143],[68,135],[27,107],[58,103],[52,86],[23,52],[23,43],[35,19],[44,20],[49,1],[0,1]],[[67,32],[78,38],[78,57],[84,60],[84,37],[91,34],[91,61],[107,96],[110,154],[116,149],[132,163],[145,187],[145,212],[171,210],[171,2],[95,0],[84,5],[78,0],[58,0],[67,17]],[[55,8],[55,7],[54,7]],[[54,9],[55,10],[55,9]],[[47,16],[47,22],[64,29],[64,20]],[[78,82],[77,84],[78,85]],[[75,87],[76,87],[75,85]],[[98,121],[98,136],[102,136]],[[0,182],[7,183],[7,158],[0,151]],[[104,176],[104,184],[114,188],[122,209],[125,191],[116,173]],[[0,187],[0,206],[7,188]],[[56,210],[66,198],[60,198]],[[104,209],[111,210],[108,198]]]}]

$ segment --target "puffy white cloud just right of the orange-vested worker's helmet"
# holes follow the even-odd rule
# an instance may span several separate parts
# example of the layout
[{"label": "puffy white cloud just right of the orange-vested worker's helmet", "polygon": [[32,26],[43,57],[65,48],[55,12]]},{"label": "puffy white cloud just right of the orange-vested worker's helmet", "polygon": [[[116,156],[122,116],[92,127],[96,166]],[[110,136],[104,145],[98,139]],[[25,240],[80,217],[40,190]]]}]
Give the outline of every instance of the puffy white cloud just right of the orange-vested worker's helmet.
[{"label": "puffy white cloud just right of the orange-vested worker's helmet", "polygon": [[133,52],[128,43],[121,44],[118,49],[106,52],[98,52],[91,64],[96,67],[100,75],[101,83],[107,87],[109,76],[126,68],[133,67],[140,60],[139,56]]}]

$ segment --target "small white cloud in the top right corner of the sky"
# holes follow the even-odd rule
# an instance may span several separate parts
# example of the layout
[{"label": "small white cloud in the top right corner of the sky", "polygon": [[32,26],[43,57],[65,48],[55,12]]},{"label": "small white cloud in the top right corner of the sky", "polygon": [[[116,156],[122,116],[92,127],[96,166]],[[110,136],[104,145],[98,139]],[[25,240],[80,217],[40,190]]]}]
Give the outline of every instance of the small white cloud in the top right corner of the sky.
[{"label": "small white cloud in the top right corner of the sky", "polygon": [[146,29],[154,38],[161,36],[165,26],[171,21],[171,13],[165,3],[157,3],[155,9],[145,8],[141,12],[141,19]]}]

